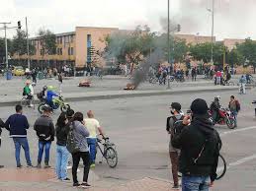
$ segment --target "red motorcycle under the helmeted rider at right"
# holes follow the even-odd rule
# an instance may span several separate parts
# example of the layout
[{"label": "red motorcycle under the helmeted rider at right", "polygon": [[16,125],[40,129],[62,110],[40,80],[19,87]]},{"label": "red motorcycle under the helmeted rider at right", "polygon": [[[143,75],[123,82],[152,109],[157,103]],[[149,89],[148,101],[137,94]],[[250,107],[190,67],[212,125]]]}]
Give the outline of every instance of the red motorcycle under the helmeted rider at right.
[{"label": "red motorcycle under the helmeted rider at right", "polygon": [[[235,118],[232,112],[228,108],[218,109],[219,119],[218,121],[213,121],[214,124],[227,125],[229,129],[235,128]],[[213,111],[210,110],[210,115],[213,116]]]}]

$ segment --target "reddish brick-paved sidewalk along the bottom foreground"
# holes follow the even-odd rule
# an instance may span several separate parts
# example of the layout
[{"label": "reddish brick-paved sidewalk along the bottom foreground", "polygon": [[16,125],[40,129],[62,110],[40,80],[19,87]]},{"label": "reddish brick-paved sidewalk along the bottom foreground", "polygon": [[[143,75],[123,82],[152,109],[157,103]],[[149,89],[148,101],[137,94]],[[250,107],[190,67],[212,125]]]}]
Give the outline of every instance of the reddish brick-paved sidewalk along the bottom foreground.
[{"label": "reddish brick-paved sidewalk along the bottom foreground", "polygon": [[[166,180],[145,177],[123,184],[108,186],[108,183],[92,181],[90,171],[89,191],[173,191],[172,184]],[[110,185],[110,184],[109,184]],[[0,191],[73,191],[85,190],[73,188],[72,182],[60,182],[54,178],[53,169],[4,168],[0,169]]]}]

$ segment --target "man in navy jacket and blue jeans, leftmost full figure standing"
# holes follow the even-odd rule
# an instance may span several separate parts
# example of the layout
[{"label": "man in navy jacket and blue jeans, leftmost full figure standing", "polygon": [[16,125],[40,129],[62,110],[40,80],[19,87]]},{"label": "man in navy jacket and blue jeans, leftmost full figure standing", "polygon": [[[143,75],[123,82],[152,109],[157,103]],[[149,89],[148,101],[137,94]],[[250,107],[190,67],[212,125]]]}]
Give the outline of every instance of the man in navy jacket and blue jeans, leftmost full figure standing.
[{"label": "man in navy jacket and blue jeans, leftmost full figure standing", "polygon": [[27,129],[30,128],[28,119],[23,115],[23,107],[21,105],[15,106],[16,113],[11,115],[5,122],[6,129],[10,132],[10,137],[13,138],[15,146],[15,158],[17,167],[21,168],[21,147],[24,150],[27,166],[32,167],[30,147],[27,139]]}]

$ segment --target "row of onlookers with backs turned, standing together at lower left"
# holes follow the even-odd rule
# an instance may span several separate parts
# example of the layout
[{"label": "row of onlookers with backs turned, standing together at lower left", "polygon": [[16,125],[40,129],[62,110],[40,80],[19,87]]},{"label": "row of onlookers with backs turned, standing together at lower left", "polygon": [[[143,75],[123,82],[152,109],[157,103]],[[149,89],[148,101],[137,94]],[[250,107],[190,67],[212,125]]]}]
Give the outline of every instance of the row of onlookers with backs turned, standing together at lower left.
[{"label": "row of onlookers with backs turned, standing together at lower left", "polygon": [[[90,187],[88,174],[90,167],[95,167],[97,136],[104,136],[99,121],[94,118],[93,111],[89,110],[87,112],[87,118],[85,118],[83,113],[68,109],[66,112],[60,113],[54,125],[51,118],[52,108],[45,105],[43,107],[43,115],[33,125],[35,135],[38,137],[39,148],[37,164],[33,165],[27,136],[27,131],[31,125],[23,113],[23,107],[21,105],[16,105],[15,110],[16,113],[10,115],[6,122],[0,120],[0,127],[6,128],[9,131],[10,138],[13,139],[17,168],[23,167],[20,159],[21,148],[23,148],[25,153],[27,167],[49,168],[50,148],[56,139],[56,159],[54,162],[56,177],[61,181],[70,181],[67,174],[67,165],[68,159],[71,156],[73,186]],[[0,134],[2,132],[1,128]],[[74,150],[70,150],[70,147],[75,147],[75,152],[73,152]],[[80,159],[83,160],[84,165],[81,184],[77,178]],[[4,166],[1,165],[0,167]]]}]

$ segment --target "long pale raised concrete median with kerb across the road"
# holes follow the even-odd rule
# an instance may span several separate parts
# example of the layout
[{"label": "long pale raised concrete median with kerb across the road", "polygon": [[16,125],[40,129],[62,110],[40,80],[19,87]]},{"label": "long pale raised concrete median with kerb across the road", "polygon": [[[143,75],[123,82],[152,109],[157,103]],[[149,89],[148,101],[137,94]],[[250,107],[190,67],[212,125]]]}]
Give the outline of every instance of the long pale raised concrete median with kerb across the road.
[{"label": "long pale raised concrete median with kerb across the road", "polygon": [[[85,88],[86,89],[86,88]],[[236,86],[207,86],[207,87],[180,87],[171,88],[170,90],[134,90],[134,91],[98,91],[98,92],[81,92],[81,93],[63,93],[66,101],[83,101],[83,100],[99,100],[112,98],[125,98],[134,96],[166,96],[166,95],[182,95],[195,94],[198,92],[229,92],[238,90]],[[37,98],[36,98],[37,99]],[[1,96],[0,106],[11,106],[20,103],[21,96]]]}]

